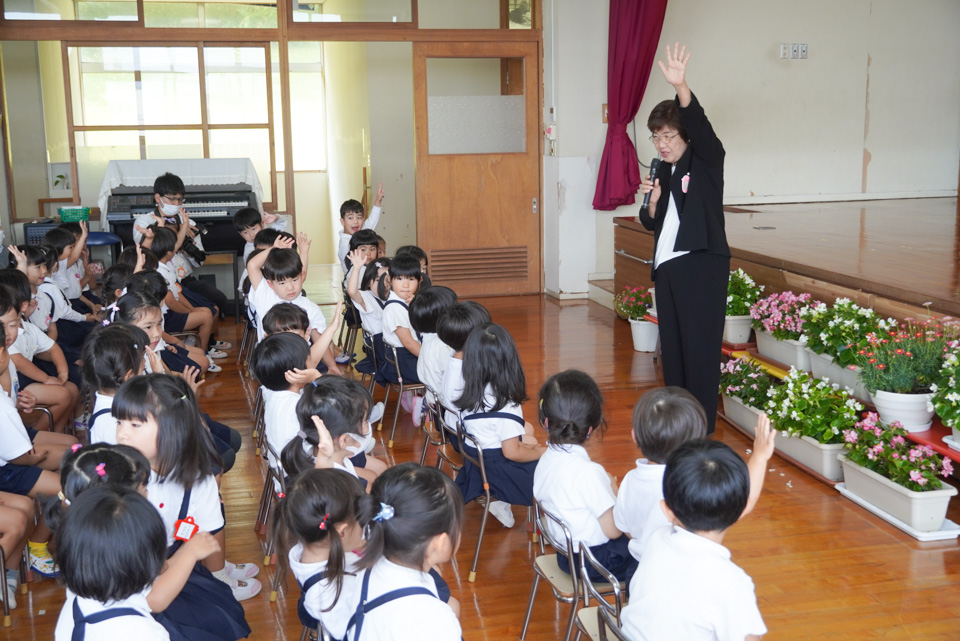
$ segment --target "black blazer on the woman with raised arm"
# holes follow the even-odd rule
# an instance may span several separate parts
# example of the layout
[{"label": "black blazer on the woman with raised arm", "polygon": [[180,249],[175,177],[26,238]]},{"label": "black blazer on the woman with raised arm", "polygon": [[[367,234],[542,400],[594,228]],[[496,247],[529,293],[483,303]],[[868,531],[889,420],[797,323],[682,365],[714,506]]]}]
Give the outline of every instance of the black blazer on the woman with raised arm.
[{"label": "black blazer on the woman with raised arm", "polygon": [[[703,251],[729,257],[730,247],[727,246],[723,225],[723,159],[726,155],[723,143],[714,133],[696,96],[692,96],[686,108],[680,107],[678,98],[675,100],[690,141],[687,150],[677,161],[675,172],[671,174],[670,163],[660,163],[656,178],[660,179],[662,191],[656,216],[651,218],[648,212],[641,209],[638,216],[640,223],[653,230],[656,256],[656,245],[660,242],[660,230],[670,202],[666,191],[669,189],[680,215],[674,251]],[[687,174],[690,179],[687,193],[683,193],[681,180]],[[650,280],[656,280],[654,267],[650,268]]]}]

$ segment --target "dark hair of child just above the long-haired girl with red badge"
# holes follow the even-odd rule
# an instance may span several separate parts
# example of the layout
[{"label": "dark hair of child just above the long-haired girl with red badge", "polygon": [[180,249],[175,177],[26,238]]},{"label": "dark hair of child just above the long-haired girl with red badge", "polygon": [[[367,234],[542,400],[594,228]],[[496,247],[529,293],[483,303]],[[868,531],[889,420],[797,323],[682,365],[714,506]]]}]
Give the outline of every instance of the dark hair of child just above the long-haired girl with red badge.
[{"label": "dark hair of child just above the long-haired girl with red badge", "polygon": [[115,391],[127,372],[140,373],[147,333],[136,325],[98,325],[83,341],[80,352],[83,384],[91,392]]}]

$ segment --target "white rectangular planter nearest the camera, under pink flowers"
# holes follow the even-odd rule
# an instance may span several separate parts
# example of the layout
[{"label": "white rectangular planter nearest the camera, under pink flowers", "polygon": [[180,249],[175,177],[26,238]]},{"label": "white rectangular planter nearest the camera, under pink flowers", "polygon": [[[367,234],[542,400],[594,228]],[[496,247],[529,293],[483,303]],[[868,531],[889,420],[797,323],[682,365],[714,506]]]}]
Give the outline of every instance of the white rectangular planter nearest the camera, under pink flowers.
[{"label": "white rectangular planter nearest the camera, under pink flowers", "polygon": [[847,490],[859,498],[921,532],[934,532],[943,525],[950,498],[956,495],[957,488],[944,483],[939,490],[914,492],[860,467],[843,454],[838,458],[843,464]]}]

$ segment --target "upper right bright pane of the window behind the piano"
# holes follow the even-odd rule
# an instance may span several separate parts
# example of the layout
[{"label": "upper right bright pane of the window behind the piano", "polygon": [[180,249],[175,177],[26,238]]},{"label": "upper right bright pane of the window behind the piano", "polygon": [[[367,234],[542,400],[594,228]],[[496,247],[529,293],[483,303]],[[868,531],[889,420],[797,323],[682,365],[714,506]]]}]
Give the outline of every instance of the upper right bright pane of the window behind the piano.
[{"label": "upper right bright pane of the window behind the piano", "polygon": [[204,47],[203,61],[210,124],[266,124],[266,51],[262,47]]}]

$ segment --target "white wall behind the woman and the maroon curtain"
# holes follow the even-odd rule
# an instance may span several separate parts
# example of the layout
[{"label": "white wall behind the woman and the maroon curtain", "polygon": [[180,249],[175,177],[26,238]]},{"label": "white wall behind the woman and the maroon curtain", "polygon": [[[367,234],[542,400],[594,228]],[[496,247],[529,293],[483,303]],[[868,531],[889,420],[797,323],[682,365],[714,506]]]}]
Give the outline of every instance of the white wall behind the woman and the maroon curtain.
[{"label": "white wall behind the woman and the maroon curtain", "polygon": [[[589,274],[612,272],[611,219],[637,209],[591,208],[606,134],[606,11],[544,1],[544,120],[555,96],[566,194],[544,212],[545,225],[562,222],[556,241],[545,233],[557,243],[545,255],[562,257],[544,264],[554,291],[585,292]],[[955,0],[670,0],[659,50],[676,40],[692,49],[689,84],[727,149],[725,203],[947,196],[960,161],[957,33]],[[780,60],[781,42],[806,43],[808,59]],[[650,78],[637,122],[645,163],[646,115],[673,95],[658,68]],[[545,171],[545,205],[558,188],[548,180]]]}]

